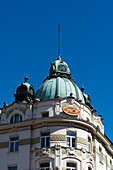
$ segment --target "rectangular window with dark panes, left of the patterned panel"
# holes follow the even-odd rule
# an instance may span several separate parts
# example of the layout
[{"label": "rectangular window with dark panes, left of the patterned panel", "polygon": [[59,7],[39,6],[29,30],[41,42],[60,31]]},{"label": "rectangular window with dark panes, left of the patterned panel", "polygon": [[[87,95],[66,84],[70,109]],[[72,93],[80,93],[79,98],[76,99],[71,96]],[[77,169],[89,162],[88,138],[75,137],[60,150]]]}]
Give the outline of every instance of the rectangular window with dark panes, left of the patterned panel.
[{"label": "rectangular window with dark panes, left of the patterned panel", "polygon": [[50,132],[41,133],[41,147],[50,146]]}]

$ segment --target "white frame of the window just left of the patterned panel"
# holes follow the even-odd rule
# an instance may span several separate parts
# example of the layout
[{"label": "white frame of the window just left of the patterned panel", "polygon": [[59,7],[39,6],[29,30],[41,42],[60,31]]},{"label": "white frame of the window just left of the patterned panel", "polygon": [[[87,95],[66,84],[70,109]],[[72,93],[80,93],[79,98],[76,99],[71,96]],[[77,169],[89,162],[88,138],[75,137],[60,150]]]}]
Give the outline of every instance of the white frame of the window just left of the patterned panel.
[{"label": "white frame of the window just left of the patterned panel", "polygon": [[[44,134],[47,134],[47,135],[44,135]],[[41,148],[43,147],[50,147],[50,132],[41,132],[41,138],[40,138],[40,145],[41,145]],[[49,138],[49,146],[47,146],[47,140]],[[42,146],[42,140],[44,140],[44,146]]]}]

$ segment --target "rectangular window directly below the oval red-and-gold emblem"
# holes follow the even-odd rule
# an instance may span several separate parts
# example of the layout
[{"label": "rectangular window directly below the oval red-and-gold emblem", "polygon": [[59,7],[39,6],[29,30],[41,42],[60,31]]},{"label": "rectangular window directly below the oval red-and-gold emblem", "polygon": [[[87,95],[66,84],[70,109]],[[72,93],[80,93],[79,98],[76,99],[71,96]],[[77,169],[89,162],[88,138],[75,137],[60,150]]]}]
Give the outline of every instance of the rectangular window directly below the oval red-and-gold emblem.
[{"label": "rectangular window directly below the oval red-and-gold emblem", "polygon": [[76,147],[76,133],[67,132],[67,146]]}]

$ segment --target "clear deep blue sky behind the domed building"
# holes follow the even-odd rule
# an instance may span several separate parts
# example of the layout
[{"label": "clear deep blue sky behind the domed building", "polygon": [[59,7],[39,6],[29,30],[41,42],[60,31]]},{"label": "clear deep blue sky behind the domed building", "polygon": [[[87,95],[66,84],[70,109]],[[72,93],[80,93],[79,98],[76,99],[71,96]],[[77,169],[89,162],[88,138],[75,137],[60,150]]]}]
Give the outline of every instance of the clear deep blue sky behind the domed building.
[{"label": "clear deep blue sky behind the domed building", "polygon": [[113,142],[113,0],[0,0],[0,107],[27,73],[35,92],[58,56],[90,95]]}]

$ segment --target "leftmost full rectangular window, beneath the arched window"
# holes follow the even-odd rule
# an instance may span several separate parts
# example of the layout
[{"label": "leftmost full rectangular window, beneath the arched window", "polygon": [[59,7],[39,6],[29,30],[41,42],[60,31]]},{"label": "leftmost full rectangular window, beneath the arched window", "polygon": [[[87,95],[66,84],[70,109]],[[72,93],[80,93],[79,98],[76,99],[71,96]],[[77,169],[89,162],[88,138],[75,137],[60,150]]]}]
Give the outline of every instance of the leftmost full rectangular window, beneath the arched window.
[{"label": "leftmost full rectangular window, beneath the arched window", "polygon": [[10,152],[17,152],[19,144],[19,137],[10,138]]}]

